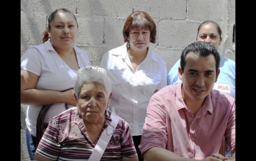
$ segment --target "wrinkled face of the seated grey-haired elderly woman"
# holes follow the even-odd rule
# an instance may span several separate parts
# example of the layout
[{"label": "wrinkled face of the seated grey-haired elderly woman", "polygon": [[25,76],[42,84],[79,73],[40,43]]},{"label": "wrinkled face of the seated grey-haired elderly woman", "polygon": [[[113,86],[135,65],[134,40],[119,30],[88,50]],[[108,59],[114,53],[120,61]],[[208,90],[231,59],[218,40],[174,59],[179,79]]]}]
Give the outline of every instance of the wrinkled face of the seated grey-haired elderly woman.
[{"label": "wrinkled face of the seated grey-haired elderly woman", "polygon": [[102,84],[84,83],[77,98],[80,116],[89,123],[101,122],[110,99]]}]

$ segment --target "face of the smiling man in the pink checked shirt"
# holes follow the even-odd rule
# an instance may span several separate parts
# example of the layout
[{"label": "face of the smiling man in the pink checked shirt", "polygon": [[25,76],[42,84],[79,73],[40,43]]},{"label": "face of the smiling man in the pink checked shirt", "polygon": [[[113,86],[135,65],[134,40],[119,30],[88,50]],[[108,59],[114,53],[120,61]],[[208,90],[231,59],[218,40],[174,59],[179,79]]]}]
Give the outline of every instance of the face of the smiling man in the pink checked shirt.
[{"label": "face of the smiling man in the pink checked shirt", "polygon": [[185,101],[203,102],[219,75],[219,70],[216,74],[215,58],[213,54],[202,57],[189,52],[185,61],[184,72],[179,67],[183,98]]}]

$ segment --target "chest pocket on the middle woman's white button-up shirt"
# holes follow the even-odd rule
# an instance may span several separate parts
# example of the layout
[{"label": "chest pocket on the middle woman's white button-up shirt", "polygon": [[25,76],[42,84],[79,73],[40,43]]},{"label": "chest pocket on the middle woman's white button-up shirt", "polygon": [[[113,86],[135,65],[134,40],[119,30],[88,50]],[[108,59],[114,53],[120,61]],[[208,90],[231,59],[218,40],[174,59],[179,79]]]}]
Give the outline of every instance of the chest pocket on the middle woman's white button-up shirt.
[{"label": "chest pocket on the middle woman's white button-up shirt", "polygon": [[144,85],[144,94],[152,96],[161,82],[161,74],[147,72]]}]

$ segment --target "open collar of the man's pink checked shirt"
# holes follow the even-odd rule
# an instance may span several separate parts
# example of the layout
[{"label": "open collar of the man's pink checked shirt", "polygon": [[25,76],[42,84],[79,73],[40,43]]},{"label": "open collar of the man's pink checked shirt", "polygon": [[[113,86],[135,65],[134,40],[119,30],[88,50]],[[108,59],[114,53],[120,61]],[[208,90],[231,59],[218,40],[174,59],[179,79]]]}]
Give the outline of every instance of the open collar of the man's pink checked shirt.
[{"label": "open collar of the man's pink checked shirt", "polygon": [[[182,82],[178,83],[176,87],[176,109],[179,111],[180,109],[186,108],[189,110],[184,102],[183,96],[182,96]],[[212,91],[206,96],[205,101],[202,105],[202,114],[205,115],[207,111],[212,113],[213,107],[211,102],[211,95]]]}]

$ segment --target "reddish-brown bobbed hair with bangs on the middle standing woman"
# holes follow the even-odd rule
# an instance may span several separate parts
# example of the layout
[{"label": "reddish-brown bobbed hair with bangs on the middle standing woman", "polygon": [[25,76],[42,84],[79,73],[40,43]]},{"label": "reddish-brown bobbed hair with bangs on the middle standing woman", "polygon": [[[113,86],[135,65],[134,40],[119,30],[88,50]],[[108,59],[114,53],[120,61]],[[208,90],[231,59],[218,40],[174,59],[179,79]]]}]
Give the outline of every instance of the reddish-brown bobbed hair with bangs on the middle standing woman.
[{"label": "reddish-brown bobbed hair with bangs on the middle standing woman", "polygon": [[156,42],[156,24],[153,19],[143,11],[134,11],[125,21],[123,36],[124,42],[128,42],[129,33],[133,29],[145,28],[150,31],[150,42]]}]

